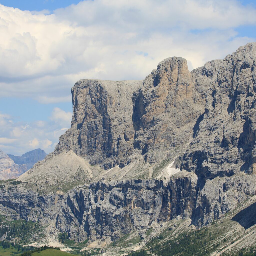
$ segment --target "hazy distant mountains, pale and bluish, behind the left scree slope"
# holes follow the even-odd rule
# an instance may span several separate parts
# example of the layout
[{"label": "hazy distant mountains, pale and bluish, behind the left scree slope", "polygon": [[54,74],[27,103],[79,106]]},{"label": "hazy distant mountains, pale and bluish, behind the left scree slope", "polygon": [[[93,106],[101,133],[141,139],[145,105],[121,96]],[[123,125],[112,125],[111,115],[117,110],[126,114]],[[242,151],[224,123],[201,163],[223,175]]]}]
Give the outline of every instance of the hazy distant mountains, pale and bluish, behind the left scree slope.
[{"label": "hazy distant mountains, pale and bluish, behind the left scree slope", "polygon": [[7,155],[0,150],[0,180],[15,179],[46,157],[44,150],[36,149],[22,156]]}]

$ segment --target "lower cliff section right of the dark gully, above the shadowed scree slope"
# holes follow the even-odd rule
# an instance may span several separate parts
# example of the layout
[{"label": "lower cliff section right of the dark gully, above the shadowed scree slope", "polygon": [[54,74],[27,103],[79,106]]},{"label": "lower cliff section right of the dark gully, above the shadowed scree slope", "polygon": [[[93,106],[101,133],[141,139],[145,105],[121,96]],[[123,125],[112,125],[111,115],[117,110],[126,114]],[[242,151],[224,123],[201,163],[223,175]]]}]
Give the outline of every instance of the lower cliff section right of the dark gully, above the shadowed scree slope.
[{"label": "lower cliff section right of the dark gully, above the shadowed scree slope", "polygon": [[205,226],[255,194],[256,175],[234,175],[207,180],[197,196],[193,223],[197,227]]}]

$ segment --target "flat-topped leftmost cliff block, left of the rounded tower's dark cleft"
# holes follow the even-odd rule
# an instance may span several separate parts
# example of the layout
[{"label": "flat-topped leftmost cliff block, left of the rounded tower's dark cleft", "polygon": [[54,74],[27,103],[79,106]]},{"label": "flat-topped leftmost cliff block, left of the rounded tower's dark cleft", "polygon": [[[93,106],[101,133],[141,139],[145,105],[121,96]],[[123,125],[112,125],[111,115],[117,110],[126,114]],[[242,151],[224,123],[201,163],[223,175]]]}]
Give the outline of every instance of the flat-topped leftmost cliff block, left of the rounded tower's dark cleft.
[{"label": "flat-topped leftmost cliff block, left of the rounded tower's dark cleft", "polygon": [[72,150],[105,169],[127,164],[133,150],[132,94],[140,81],[80,80],[72,88],[72,126],[55,154]]}]

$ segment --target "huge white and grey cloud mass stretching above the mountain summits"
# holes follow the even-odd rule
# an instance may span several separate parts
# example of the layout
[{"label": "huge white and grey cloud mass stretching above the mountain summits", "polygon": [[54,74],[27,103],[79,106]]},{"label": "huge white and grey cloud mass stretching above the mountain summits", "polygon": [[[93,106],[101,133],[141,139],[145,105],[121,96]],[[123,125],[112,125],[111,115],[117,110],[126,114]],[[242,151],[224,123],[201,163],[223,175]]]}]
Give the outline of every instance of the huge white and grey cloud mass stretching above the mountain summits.
[{"label": "huge white and grey cloud mass stretching above the mountain summits", "polygon": [[[253,38],[234,28],[256,23],[235,0],[95,0],[45,12],[0,5],[2,97],[66,102],[79,79],[143,79],[181,56],[189,68],[223,58]],[[199,33],[197,33],[199,31]]]}]

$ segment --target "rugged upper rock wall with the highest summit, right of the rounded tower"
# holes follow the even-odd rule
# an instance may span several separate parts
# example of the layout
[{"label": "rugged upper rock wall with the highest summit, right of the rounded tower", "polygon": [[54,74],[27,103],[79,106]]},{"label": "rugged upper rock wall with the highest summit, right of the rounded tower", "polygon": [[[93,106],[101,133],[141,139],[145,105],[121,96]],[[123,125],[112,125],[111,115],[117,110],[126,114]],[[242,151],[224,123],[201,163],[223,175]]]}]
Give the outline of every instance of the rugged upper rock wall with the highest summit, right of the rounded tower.
[{"label": "rugged upper rock wall with the highest summit, right of the rounded tower", "polygon": [[207,179],[255,172],[256,44],[240,47],[223,61],[208,62],[205,112],[194,139],[180,156],[181,168]]}]

